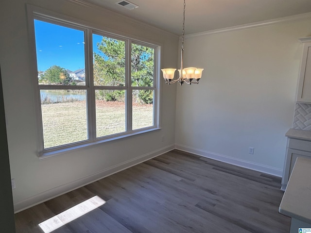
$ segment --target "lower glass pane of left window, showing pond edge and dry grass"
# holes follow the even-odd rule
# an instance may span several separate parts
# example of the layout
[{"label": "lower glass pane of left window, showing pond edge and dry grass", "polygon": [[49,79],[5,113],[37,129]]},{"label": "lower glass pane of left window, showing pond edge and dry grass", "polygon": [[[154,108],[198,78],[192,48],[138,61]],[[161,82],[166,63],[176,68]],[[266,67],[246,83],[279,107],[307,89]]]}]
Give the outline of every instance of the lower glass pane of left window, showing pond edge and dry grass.
[{"label": "lower glass pane of left window, showing pond edge and dry grass", "polygon": [[84,141],[86,90],[40,90],[44,148]]}]

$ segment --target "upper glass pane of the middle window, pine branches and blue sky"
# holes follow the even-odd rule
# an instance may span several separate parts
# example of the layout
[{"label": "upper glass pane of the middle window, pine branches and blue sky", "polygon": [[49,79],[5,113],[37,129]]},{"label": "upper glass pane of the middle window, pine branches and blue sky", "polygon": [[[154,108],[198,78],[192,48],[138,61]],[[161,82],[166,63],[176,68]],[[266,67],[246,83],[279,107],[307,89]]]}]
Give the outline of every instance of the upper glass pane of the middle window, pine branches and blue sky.
[{"label": "upper glass pane of the middle window, pine branches and blue sky", "polygon": [[95,86],[125,85],[125,42],[93,34]]}]

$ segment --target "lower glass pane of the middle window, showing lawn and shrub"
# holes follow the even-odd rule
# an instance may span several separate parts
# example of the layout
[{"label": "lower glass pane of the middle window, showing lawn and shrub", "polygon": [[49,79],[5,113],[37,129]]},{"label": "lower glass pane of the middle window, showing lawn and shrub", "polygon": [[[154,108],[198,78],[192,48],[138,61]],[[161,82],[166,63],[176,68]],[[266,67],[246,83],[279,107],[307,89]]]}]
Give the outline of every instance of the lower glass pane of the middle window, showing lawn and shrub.
[{"label": "lower glass pane of the middle window, showing lawn and shrub", "polygon": [[126,131],[125,90],[95,90],[96,137]]}]

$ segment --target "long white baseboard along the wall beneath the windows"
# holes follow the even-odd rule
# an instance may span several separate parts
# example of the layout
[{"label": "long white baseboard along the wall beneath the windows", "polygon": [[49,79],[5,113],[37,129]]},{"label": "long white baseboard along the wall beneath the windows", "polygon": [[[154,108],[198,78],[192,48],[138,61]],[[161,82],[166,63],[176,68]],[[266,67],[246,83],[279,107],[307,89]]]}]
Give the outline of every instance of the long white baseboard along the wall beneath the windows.
[{"label": "long white baseboard along the wall beneath the windows", "polygon": [[172,144],[172,145],[169,145],[167,147],[161,148],[159,150],[155,150],[155,151],[152,151],[150,153],[141,155],[137,158],[128,160],[128,161],[121,163],[121,164],[118,164],[116,166],[111,166],[109,168],[106,168],[100,172],[94,173],[94,174],[89,175],[87,177],[84,177],[82,179],[75,180],[73,182],[60,185],[58,187],[54,187],[50,190],[39,193],[39,194],[32,196],[30,198],[27,198],[25,200],[18,201],[16,203],[14,203],[14,212],[18,213],[20,211],[23,211],[25,209],[33,207],[37,204],[40,204],[44,201],[51,200],[53,198],[56,198],[58,196],[65,194],[65,193],[68,193],[72,190],[83,187],[89,183],[93,183],[95,181],[103,179],[104,177],[110,176],[110,175],[117,173],[121,170],[129,168],[131,166],[138,165],[142,162],[145,162],[149,159],[152,159],[156,156],[164,154],[164,153],[171,151],[173,149],[175,149],[175,144]]}]

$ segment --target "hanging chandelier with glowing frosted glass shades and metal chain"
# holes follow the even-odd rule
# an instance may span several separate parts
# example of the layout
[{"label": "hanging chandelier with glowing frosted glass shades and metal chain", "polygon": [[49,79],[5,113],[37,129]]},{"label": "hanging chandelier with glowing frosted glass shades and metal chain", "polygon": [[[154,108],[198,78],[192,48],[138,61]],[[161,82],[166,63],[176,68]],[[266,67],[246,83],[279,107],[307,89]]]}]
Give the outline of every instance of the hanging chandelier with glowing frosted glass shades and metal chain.
[{"label": "hanging chandelier with glowing frosted glass shades and metal chain", "polygon": [[[184,37],[185,37],[185,11],[186,11],[186,0],[184,0],[184,17],[183,17],[183,35],[181,40],[181,60],[180,60],[180,69],[179,71],[179,78],[173,80],[175,76],[176,69],[174,68],[166,68],[161,69],[163,73],[163,78],[165,83],[173,84],[178,81],[180,85],[183,83],[191,84],[191,83],[199,83],[199,80],[202,76],[202,68],[196,67],[187,67],[184,68],[183,60],[184,60]],[[173,81],[172,81],[173,80]]]}]

